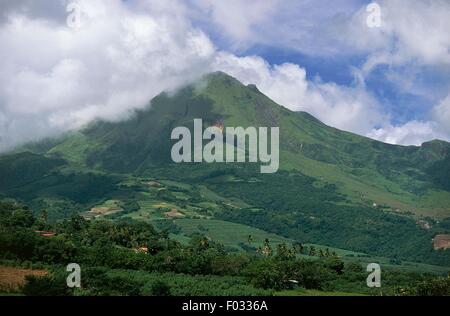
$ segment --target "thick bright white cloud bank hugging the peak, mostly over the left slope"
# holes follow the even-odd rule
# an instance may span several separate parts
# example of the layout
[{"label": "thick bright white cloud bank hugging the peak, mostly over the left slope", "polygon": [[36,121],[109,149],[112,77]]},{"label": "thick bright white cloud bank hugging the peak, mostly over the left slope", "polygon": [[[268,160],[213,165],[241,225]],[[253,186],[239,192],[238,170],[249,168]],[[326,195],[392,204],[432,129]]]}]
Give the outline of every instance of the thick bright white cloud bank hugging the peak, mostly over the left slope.
[{"label": "thick bright white cloud bank hugging the peak, mostly over the left slope", "polygon": [[[177,1],[79,3],[84,12],[79,30],[68,28],[65,21],[19,14],[32,12],[33,7],[11,10],[0,29],[0,58],[5,64],[0,73],[0,113],[6,118],[0,120],[2,149],[77,129],[98,118],[124,119],[129,110],[144,106],[161,91],[210,69],[256,83],[280,104],[308,111],[336,127],[365,133],[382,119],[376,101],[362,87],[309,82],[298,65],[270,66],[258,57],[217,52]],[[214,3],[199,5],[218,15],[223,2]],[[266,11],[274,3],[255,5],[256,11]],[[228,14],[243,6],[242,1],[232,2]],[[247,23],[245,18],[237,21]],[[251,25],[240,24],[236,30],[250,32]],[[236,35],[233,29],[229,32]]]}]

